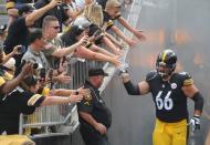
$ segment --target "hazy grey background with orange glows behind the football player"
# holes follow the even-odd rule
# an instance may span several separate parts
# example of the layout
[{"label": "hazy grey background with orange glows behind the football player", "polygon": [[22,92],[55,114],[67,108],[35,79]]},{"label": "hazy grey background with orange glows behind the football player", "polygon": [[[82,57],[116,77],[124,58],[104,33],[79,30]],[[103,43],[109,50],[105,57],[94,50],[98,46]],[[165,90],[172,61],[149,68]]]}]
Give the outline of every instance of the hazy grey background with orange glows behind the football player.
[{"label": "hazy grey background with orange glows behind the football player", "polygon": [[[189,145],[203,145],[210,128],[210,1],[143,0],[141,3],[138,28],[145,31],[147,41],[128,54],[132,80],[135,83],[144,80],[155,69],[157,54],[172,49],[178,55],[177,71],[189,72],[204,96],[201,130],[191,134],[189,141]],[[104,95],[113,112],[111,143],[151,145],[155,122],[151,95],[128,96],[117,75]],[[189,100],[188,104],[192,116],[193,102]]]}]

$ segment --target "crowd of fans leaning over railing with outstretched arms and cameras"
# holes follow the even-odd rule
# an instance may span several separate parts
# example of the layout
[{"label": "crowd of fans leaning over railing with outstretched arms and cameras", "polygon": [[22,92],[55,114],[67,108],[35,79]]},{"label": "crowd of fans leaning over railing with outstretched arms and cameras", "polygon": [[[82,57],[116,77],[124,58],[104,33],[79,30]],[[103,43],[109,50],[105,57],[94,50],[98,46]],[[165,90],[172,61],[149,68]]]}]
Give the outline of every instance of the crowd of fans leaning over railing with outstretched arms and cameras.
[{"label": "crowd of fans leaning over railing with outstretched arms and cameras", "polygon": [[[145,40],[120,14],[117,0],[8,0],[8,24],[0,28],[0,134],[18,134],[19,115],[35,107],[76,103],[90,90],[52,90],[70,83],[71,58],[120,68],[125,43]],[[115,25],[118,21],[135,38]],[[123,43],[109,32],[115,33]],[[102,44],[106,49],[102,48]]]}]

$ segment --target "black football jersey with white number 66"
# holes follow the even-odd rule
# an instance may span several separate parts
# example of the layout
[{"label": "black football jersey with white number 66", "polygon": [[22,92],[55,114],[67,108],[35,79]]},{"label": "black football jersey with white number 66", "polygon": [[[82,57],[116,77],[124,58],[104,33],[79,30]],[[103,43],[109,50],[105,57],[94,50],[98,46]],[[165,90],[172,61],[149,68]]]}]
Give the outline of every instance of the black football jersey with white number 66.
[{"label": "black football jersey with white number 66", "polygon": [[187,96],[182,92],[182,86],[193,84],[188,73],[174,73],[169,81],[162,81],[157,71],[151,71],[146,82],[153,94],[158,120],[175,123],[188,118]]}]

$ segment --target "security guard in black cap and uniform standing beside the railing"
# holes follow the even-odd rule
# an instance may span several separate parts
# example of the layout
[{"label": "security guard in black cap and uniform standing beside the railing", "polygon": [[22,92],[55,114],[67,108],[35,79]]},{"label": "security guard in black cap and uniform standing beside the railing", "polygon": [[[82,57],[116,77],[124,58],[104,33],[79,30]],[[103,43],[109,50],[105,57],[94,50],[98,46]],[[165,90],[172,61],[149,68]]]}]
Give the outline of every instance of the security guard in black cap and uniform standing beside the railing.
[{"label": "security guard in black cap and uniform standing beside the railing", "polygon": [[91,90],[91,95],[84,96],[77,104],[80,132],[85,145],[108,145],[106,133],[111,127],[112,114],[98,91],[104,76],[107,76],[107,73],[102,69],[88,71],[88,81],[85,82],[84,87]]}]

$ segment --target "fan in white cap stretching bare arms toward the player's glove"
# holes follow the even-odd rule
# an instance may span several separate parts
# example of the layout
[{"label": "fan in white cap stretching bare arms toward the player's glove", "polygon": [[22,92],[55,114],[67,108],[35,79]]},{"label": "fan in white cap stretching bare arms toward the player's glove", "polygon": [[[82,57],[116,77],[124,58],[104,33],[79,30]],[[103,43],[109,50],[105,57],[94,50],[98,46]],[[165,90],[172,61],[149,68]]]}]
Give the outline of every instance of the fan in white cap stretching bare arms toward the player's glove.
[{"label": "fan in white cap stretching bare arms toward the player's glove", "polygon": [[83,45],[75,49],[75,56],[94,61],[111,62],[115,66],[119,66],[120,64],[117,56],[87,41],[90,23],[91,22],[84,17],[77,18],[73,22],[71,29],[61,37],[64,45],[71,46],[78,43],[81,40],[85,40]]}]

